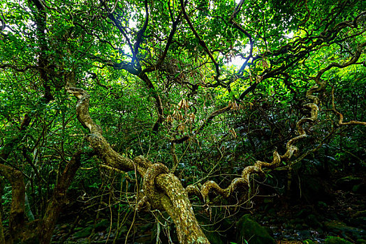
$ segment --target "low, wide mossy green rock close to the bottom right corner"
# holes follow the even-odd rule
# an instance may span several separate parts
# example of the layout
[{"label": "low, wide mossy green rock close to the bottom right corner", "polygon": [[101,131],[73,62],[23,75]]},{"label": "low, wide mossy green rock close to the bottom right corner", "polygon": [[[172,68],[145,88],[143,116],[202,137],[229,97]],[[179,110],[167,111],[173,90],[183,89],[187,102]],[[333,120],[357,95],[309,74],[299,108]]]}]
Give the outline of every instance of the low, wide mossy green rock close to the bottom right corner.
[{"label": "low, wide mossy green rock close to the bottom right corner", "polygon": [[334,234],[339,234],[339,236],[351,236],[352,239],[362,239],[366,236],[366,231],[364,229],[349,227],[344,224],[344,222],[337,220],[325,222],[324,227]]}]

